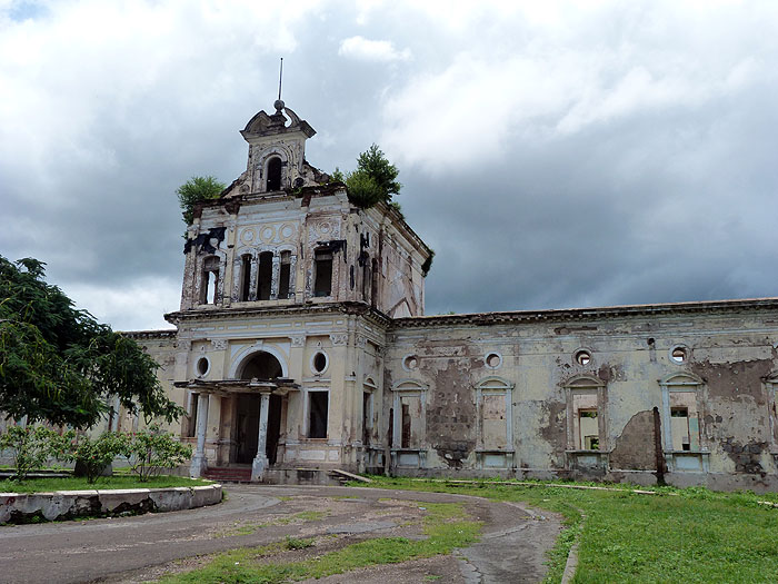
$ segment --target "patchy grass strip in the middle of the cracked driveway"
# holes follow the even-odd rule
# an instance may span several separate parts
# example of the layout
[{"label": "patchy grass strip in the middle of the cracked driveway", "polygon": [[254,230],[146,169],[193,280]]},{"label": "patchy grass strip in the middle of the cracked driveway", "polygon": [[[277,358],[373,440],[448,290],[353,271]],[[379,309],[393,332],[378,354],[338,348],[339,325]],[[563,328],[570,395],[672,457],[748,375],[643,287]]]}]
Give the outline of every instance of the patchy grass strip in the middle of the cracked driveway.
[{"label": "patchy grass strip in the middle of the cracked driveway", "polygon": [[262,583],[271,584],[305,578],[320,578],[342,574],[376,564],[393,564],[438,554],[450,554],[478,540],[481,524],[470,521],[461,504],[426,503],[422,541],[405,537],[377,537],[310,560],[261,564],[258,560],[270,553],[289,548],[289,542],[279,542],[260,548],[240,548],[215,557],[207,566],[169,576],[161,582],[173,583]]}]

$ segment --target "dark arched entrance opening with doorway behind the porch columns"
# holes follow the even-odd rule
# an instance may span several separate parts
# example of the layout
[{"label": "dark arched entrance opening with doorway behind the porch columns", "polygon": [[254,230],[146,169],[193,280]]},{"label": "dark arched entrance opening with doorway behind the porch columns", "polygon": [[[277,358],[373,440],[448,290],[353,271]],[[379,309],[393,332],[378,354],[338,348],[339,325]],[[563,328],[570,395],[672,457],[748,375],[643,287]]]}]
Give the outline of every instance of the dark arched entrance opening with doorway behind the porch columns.
[{"label": "dark arched entrance opening with doorway behind the porch columns", "polygon": [[[276,379],[283,374],[279,360],[270,353],[263,350],[249,356],[241,365],[239,372],[239,378],[247,382],[251,379]],[[251,464],[255,456],[257,456],[260,399],[259,394],[238,394],[236,396],[235,454],[231,461],[233,463]],[[281,397],[271,395],[265,449],[269,464],[276,463],[280,435]]]}]

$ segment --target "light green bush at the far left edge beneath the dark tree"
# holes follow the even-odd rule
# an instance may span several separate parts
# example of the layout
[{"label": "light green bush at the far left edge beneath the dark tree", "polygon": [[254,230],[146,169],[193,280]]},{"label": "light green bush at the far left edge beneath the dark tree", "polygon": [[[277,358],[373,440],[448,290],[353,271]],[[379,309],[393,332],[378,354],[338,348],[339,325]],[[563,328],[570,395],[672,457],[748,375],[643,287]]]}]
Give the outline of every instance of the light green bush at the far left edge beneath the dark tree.
[{"label": "light green bush at the far left edge beneath the dark tree", "polygon": [[36,468],[41,468],[50,457],[59,457],[67,449],[72,433],[60,436],[44,426],[11,426],[0,435],[0,449],[10,449],[13,456],[16,481],[24,481]]}]

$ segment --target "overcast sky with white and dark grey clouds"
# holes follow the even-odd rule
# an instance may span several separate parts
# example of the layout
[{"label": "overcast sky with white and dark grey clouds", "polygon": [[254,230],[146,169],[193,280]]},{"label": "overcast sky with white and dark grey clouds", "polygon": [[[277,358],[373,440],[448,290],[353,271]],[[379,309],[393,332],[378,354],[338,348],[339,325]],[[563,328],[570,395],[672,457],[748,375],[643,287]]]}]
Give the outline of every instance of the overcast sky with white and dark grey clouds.
[{"label": "overcast sky with white and dark grey clouds", "polygon": [[778,2],[0,0],[0,255],[169,326],[176,188],[283,99],[377,142],[437,251],[427,314],[778,295]]}]

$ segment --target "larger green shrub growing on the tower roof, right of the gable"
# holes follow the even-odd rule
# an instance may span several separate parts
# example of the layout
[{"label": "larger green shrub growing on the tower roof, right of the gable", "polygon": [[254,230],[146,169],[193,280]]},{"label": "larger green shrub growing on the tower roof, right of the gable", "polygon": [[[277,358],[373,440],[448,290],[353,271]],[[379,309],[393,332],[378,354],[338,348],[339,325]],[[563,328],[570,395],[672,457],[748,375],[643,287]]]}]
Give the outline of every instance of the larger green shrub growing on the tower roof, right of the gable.
[{"label": "larger green shrub growing on the tower roof, right of the gable", "polygon": [[357,158],[357,170],[346,176],[349,199],[362,208],[372,207],[379,201],[390,204],[392,196],[399,195],[402,188],[397,181],[399,174],[378,145],[371,145]]}]

